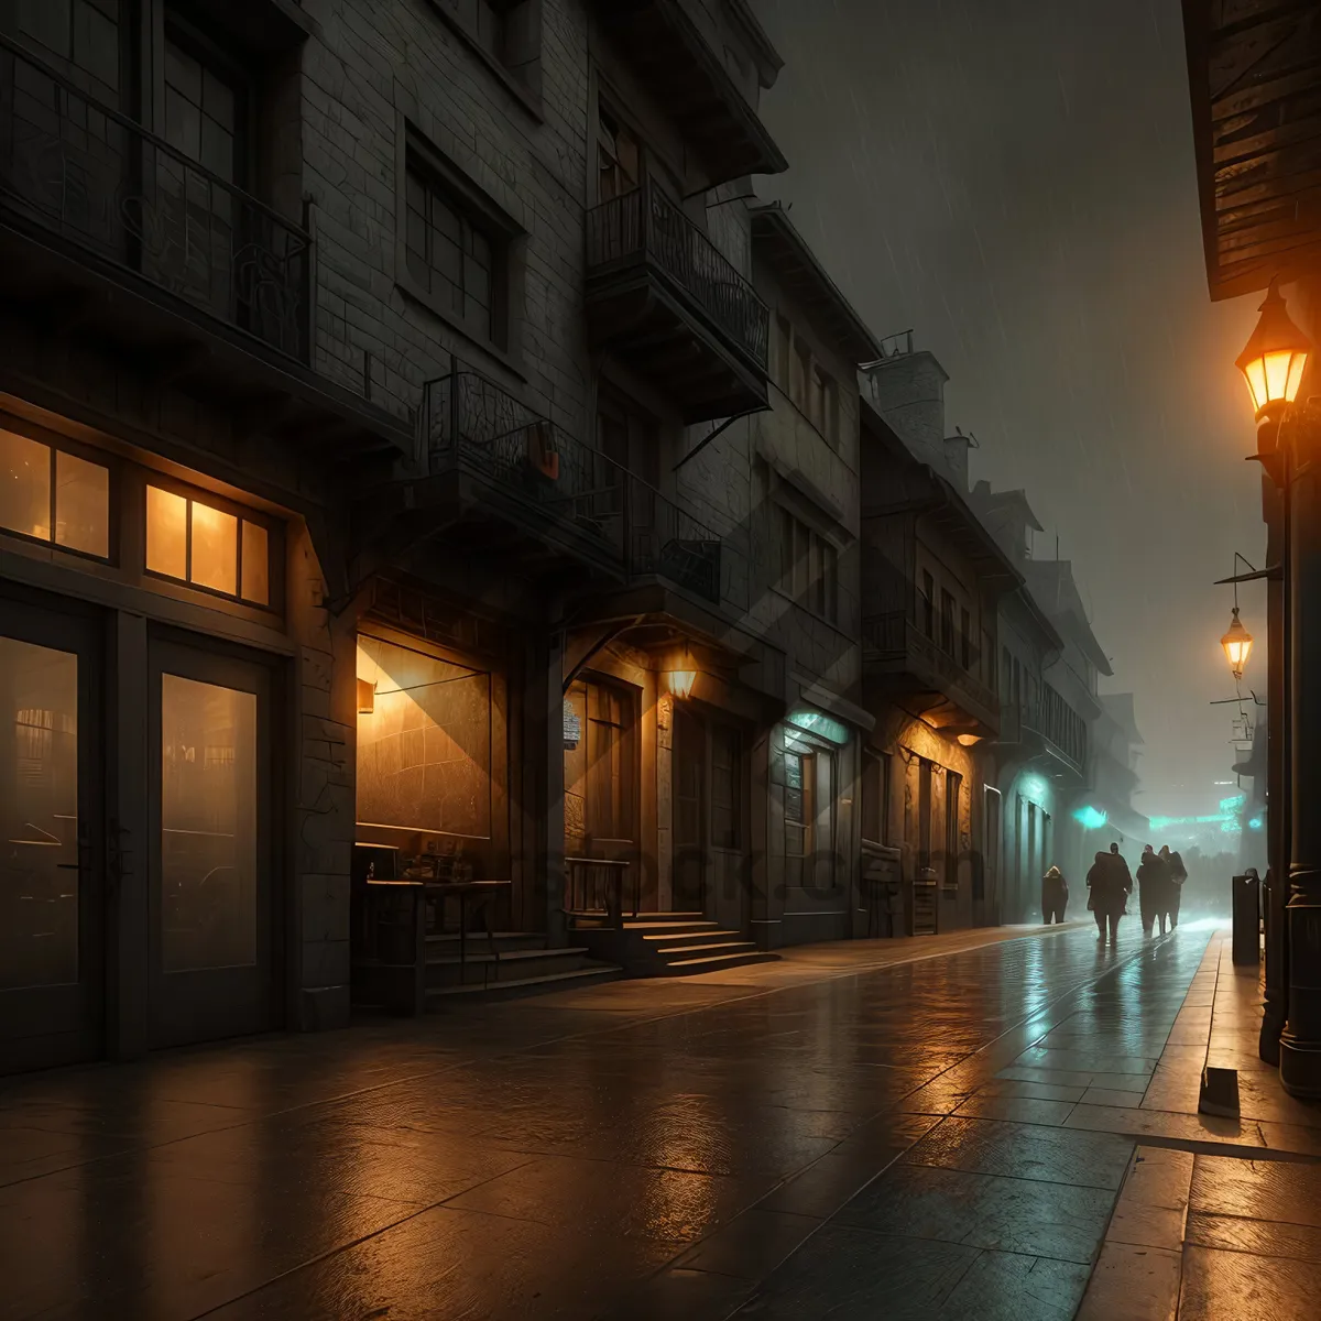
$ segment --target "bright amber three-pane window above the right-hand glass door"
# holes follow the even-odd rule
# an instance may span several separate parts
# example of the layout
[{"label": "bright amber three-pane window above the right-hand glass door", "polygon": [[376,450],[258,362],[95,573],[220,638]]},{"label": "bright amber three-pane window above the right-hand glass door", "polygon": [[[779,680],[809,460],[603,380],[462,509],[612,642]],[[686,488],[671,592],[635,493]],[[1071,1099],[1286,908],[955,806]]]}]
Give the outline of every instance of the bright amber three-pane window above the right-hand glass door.
[{"label": "bright amber three-pane window above the right-hand glass door", "polygon": [[148,485],[147,572],[248,605],[269,605],[269,534],[254,519]]}]

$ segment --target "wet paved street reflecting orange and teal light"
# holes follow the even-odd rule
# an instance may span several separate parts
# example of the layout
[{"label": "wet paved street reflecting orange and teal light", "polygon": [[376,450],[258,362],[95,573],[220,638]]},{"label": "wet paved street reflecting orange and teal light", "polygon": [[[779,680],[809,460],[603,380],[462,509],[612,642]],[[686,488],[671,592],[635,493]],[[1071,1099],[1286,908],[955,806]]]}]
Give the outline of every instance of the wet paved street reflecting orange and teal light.
[{"label": "wet paved street reflecting orange and teal light", "polygon": [[[1205,1144],[1305,1155],[1321,1129],[1207,1127],[1196,1089],[1189,1111],[1210,939],[822,946],[11,1079],[0,1318],[1065,1321],[1098,1255],[1085,1313],[1169,1316],[1170,1279],[1186,1316],[1223,1313],[1227,1217],[1267,1194]],[[1299,1234],[1306,1285],[1321,1230]]]}]

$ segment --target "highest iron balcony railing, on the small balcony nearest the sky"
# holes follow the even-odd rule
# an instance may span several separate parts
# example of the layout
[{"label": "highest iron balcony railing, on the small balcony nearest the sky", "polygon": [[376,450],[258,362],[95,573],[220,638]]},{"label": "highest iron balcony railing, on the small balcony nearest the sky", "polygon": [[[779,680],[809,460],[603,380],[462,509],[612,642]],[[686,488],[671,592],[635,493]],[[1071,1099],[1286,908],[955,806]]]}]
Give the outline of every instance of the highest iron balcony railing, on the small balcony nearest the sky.
[{"label": "highest iron balcony railing, on the small balcony nearest the sky", "polygon": [[724,254],[654,184],[593,207],[587,215],[587,264],[654,267],[695,304],[765,375],[770,312]]}]

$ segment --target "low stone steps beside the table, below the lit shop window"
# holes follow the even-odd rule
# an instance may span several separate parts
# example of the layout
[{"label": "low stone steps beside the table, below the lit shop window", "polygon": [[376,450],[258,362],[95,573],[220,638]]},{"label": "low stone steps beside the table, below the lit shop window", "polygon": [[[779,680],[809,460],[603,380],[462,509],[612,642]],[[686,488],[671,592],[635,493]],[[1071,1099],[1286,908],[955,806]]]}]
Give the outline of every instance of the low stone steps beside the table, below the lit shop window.
[{"label": "low stone steps beside the table, below the lit shop window", "polygon": [[468,935],[460,960],[457,935],[427,937],[427,1004],[450,997],[513,999],[546,991],[576,991],[625,975],[618,964],[593,958],[583,943],[551,948],[544,934],[497,931],[497,958],[485,933]]}]

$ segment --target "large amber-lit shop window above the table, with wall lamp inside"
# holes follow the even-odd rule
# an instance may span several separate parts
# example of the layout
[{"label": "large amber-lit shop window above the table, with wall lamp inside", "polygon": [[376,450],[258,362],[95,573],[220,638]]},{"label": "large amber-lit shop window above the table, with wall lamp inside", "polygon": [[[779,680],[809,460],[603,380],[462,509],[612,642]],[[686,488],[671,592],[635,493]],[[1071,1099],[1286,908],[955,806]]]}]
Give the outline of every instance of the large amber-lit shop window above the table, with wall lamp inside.
[{"label": "large amber-lit shop window above the table, with wall lamp inside", "polygon": [[358,637],[358,822],[490,836],[491,676]]}]

